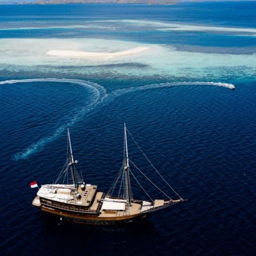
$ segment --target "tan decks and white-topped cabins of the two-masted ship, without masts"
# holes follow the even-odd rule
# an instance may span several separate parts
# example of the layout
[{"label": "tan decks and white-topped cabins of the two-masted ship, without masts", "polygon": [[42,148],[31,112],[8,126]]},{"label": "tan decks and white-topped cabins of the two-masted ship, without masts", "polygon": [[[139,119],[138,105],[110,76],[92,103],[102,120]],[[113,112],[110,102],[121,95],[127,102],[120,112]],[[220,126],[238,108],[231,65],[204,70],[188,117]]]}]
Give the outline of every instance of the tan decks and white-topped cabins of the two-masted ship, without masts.
[{"label": "tan decks and white-topped cabins of the two-masted ship, without masts", "polygon": [[[39,197],[42,201],[39,200]],[[97,192],[97,185],[86,184],[83,189],[80,185],[76,192],[73,185],[48,184],[39,189],[38,196],[33,204],[40,207],[40,203],[42,203],[49,207],[80,213],[97,214],[100,211],[99,218],[118,218],[147,213],[170,203],[164,200],[154,200],[154,202],[134,201],[131,203],[131,207],[126,209],[125,200],[110,197],[105,197],[102,200],[103,197],[103,192]]]}]

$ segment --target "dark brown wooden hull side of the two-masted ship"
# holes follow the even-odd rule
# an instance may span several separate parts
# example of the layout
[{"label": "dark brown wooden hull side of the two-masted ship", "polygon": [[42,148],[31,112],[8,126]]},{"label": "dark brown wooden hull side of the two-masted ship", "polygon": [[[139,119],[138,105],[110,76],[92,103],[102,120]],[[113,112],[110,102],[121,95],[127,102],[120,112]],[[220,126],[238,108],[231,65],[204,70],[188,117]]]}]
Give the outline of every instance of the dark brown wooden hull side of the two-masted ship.
[{"label": "dark brown wooden hull side of the two-masted ship", "polygon": [[76,214],[70,212],[63,212],[59,209],[51,209],[49,207],[42,206],[43,212],[54,214],[59,216],[61,220],[72,221],[81,224],[89,225],[119,225],[133,222],[142,219],[147,216],[148,213],[131,214],[127,216],[113,216],[113,217],[101,217],[96,214]]}]

